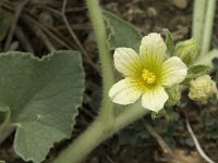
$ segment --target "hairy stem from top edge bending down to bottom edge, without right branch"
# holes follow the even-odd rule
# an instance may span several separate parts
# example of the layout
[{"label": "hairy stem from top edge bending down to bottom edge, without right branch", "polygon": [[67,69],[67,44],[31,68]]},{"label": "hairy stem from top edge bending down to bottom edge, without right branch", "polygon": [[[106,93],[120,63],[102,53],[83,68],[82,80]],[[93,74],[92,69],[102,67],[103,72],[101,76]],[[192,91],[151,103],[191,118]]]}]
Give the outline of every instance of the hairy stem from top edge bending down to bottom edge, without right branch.
[{"label": "hairy stem from top edge bending down to bottom edge, without right branch", "polygon": [[112,134],[113,104],[108,97],[110,87],[113,85],[112,62],[107,45],[105,23],[98,0],[86,0],[90,21],[94,26],[96,41],[99,49],[102,75],[102,102],[99,116],[95,122],[61,154],[55,163],[77,163],[84,159],[95,147]]}]

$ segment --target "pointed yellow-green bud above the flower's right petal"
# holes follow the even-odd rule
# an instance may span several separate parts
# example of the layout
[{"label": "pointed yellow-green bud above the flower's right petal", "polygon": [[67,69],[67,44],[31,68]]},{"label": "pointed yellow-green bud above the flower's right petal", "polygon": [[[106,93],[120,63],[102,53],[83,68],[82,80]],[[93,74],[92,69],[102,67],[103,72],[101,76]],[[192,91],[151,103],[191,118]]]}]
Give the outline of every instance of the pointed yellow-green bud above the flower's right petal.
[{"label": "pointed yellow-green bud above the flower's right petal", "polygon": [[193,38],[181,41],[175,46],[175,55],[190,65],[198,54],[197,41]]}]

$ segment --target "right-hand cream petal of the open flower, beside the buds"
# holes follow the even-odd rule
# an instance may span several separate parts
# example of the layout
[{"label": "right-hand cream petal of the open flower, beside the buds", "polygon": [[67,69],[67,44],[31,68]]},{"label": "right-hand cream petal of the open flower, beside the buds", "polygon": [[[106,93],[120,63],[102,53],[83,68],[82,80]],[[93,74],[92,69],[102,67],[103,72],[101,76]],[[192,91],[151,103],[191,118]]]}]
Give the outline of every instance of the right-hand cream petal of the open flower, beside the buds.
[{"label": "right-hand cream petal of the open flower, beside the buds", "polygon": [[172,86],[184,80],[187,67],[178,57],[172,57],[164,62],[161,82],[164,86]]}]

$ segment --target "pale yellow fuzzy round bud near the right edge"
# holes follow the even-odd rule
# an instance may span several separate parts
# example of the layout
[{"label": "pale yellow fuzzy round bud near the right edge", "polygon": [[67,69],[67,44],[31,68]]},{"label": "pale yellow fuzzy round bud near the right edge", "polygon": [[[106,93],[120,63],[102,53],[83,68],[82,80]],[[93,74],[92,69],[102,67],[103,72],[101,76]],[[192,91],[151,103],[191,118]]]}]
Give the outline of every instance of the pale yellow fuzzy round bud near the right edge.
[{"label": "pale yellow fuzzy round bud near the right edge", "polygon": [[207,100],[218,93],[216,83],[209,75],[203,75],[190,82],[189,97],[192,100],[207,103]]}]

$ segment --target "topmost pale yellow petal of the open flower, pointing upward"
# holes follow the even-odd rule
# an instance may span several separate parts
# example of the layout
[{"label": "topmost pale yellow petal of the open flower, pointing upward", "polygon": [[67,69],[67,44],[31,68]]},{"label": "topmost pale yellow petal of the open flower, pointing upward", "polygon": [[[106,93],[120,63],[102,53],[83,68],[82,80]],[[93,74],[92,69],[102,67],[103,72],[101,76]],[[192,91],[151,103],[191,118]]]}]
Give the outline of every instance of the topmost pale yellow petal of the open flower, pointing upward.
[{"label": "topmost pale yellow petal of the open flower, pointing upward", "polygon": [[140,47],[140,57],[152,68],[164,62],[166,50],[167,47],[160,34],[152,33],[143,37]]}]

